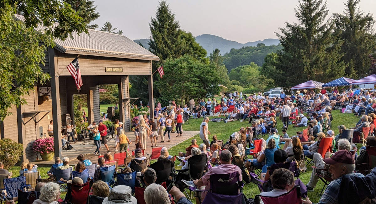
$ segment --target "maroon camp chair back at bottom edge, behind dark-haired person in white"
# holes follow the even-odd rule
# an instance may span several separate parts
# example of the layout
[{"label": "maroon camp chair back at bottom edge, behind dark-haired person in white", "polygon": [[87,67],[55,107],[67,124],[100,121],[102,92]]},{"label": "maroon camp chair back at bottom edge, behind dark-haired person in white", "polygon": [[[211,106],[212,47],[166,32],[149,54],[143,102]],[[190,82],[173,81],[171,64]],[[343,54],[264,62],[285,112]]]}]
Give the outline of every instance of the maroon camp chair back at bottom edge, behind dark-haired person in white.
[{"label": "maroon camp chair back at bottom edge, behind dark-haired person in white", "polygon": [[302,195],[300,194],[300,186],[294,186],[289,192],[277,197],[272,196],[255,196],[255,204],[260,204],[261,200],[264,204],[288,203],[288,204],[301,204]]}]

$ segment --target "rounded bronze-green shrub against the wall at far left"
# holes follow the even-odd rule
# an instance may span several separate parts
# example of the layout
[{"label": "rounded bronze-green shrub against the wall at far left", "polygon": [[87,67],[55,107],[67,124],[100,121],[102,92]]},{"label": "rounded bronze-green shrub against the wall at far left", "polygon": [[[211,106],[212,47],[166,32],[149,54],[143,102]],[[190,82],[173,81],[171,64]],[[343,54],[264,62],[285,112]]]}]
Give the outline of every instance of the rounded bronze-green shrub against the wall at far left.
[{"label": "rounded bronze-green shrub against the wall at far left", "polygon": [[0,140],[0,161],[4,164],[4,169],[14,166],[22,155],[23,145],[9,138]]}]

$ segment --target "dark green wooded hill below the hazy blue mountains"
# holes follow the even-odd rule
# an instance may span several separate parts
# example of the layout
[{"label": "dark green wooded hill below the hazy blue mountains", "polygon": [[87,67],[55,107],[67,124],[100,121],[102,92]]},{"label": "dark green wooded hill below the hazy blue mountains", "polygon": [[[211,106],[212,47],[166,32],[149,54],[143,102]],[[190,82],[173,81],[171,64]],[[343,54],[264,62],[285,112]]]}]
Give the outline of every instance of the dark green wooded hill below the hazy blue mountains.
[{"label": "dark green wooded hill below the hazy blue mountains", "polygon": [[262,66],[267,54],[281,49],[281,45],[265,46],[263,43],[259,43],[256,47],[231,49],[229,53],[223,55],[223,63],[229,71],[237,66],[249,65],[250,62],[255,62],[257,65]]}]

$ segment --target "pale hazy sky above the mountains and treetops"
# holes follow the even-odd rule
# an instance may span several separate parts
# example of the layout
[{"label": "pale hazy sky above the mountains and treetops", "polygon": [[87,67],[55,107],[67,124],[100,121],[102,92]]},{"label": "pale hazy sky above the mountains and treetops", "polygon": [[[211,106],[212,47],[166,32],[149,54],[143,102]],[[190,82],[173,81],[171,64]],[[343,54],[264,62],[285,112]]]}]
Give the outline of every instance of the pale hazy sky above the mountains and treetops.
[{"label": "pale hazy sky above the mountains and treetops", "polygon": [[[180,27],[194,36],[212,34],[246,43],[276,38],[274,32],[285,22],[297,22],[294,8],[298,0],[167,0]],[[332,13],[344,11],[345,0],[328,0]],[[94,21],[103,26],[109,21],[123,30],[128,38],[150,38],[149,22],[155,17],[157,0],[95,0],[100,17]],[[376,11],[376,0],[361,0],[365,13]],[[376,26],[375,26],[376,28]]]}]

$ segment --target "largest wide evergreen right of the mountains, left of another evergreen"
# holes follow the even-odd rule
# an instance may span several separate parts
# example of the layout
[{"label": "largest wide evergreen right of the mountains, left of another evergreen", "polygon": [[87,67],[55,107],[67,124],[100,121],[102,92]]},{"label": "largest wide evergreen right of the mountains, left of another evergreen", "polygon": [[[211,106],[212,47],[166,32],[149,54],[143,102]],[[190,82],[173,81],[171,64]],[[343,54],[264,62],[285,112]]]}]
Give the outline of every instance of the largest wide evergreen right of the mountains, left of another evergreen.
[{"label": "largest wide evergreen right of the mountains, left of another evergreen", "polygon": [[299,24],[286,23],[276,33],[282,50],[277,51],[276,69],[281,75],[277,85],[291,87],[307,80],[327,82],[343,76],[345,63],[340,59],[343,40],[333,33],[333,23],[323,0],[301,0],[295,9]]}]

